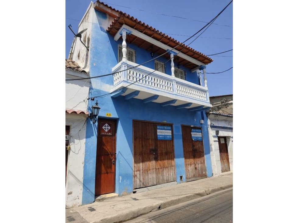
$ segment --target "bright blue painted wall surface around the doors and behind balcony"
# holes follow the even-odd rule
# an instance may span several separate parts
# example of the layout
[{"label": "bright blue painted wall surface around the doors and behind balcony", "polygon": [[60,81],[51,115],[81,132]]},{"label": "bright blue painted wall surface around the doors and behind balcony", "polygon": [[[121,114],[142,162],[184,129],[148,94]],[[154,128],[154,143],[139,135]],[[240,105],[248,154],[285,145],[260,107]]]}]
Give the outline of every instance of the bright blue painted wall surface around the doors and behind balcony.
[{"label": "bright blue painted wall surface around the doors and behind balcony", "polygon": [[[89,47],[90,58],[90,77],[111,73],[112,67],[117,64],[117,45],[122,43],[114,41],[114,38],[102,28],[102,22],[107,19],[107,15],[98,11],[93,18],[91,42]],[[98,24],[96,24],[98,23]],[[140,64],[152,59],[150,52],[138,48],[133,44],[129,47],[136,50],[136,63]],[[166,61],[160,57],[159,60]],[[175,64],[176,65],[176,64]],[[154,69],[154,61],[144,66]],[[191,73],[189,69],[181,66],[187,72],[187,81],[198,84],[196,73]],[[170,75],[170,62],[166,64],[166,72]],[[113,85],[113,76],[91,79],[89,97],[96,97],[110,92],[110,86]],[[132,120],[147,120],[154,122],[167,121],[173,123],[174,148],[176,164],[176,181],[185,182],[183,146],[181,135],[181,124],[195,125],[202,127],[203,143],[205,148],[205,160],[207,168],[207,177],[212,176],[212,166],[209,151],[209,137],[207,128],[207,118],[205,112],[188,112],[187,109],[176,109],[174,106],[161,107],[159,103],[142,103],[141,100],[132,98],[124,100],[123,96],[111,98],[96,98],[88,104],[89,112],[91,107],[98,100],[100,113],[99,117],[106,118],[106,113],[111,113],[114,119],[117,119],[117,141],[116,141],[116,181],[115,193],[126,194],[132,192],[133,182],[133,162],[132,162]],[[203,115],[203,117],[202,117]],[[199,120],[205,118],[205,124],[200,124]],[[97,122],[93,124],[88,119],[86,125],[86,145],[83,170],[83,192],[82,204],[89,204],[94,201],[95,196],[95,166],[96,166],[96,144],[97,144]],[[183,176],[180,181],[179,176]]]}]

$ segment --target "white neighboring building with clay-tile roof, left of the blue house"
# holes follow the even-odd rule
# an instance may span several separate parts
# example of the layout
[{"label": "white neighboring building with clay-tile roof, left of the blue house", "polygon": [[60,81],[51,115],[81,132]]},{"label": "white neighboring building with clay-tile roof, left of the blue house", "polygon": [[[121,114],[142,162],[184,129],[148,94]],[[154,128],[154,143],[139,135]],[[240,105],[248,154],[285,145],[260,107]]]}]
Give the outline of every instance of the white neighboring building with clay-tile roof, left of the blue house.
[{"label": "white neighboring building with clay-tile roof, left of the blue house", "polygon": [[[89,77],[78,63],[65,59],[65,79]],[[65,81],[65,206],[82,204],[87,98],[90,81]]]}]

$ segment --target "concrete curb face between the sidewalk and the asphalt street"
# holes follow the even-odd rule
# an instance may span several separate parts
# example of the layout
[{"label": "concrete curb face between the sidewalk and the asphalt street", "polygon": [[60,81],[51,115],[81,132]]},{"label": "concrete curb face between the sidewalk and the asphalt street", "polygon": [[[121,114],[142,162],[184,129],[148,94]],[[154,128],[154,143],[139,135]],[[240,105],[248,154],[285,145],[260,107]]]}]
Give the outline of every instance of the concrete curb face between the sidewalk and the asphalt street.
[{"label": "concrete curb face between the sidewalk and the asphalt street", "polygon": [[113,216],[110,218],[103,218],[100,221],[96,221],[96,222],[92,222],[92,223],[117,223],[117,222],[128,221],[128,220],[137,218],[141,215],[148,214],[149,212],[158,211],[162,208],[167,208],[167,207],[170,207],[170,206],[173,206],[176,204],[180,204],[185,201],[190,201],[190,200],[193,200],[193,199],[196,199],[199,197],[204,197],[208,194],[213,194],[215,192],[218,192],[221,190],[226,190],[231,187],[233,187],[233,183],[226,184],[226,185],[223,185],[220,187],[211,187],[206,190],[198,191],[197,193],[194,193],[194,194],[189,194],[184,197],[178,197],[178,198],[170,200],[170,201],[162,202],[162,203],[158,204],[157,206],[156,206],[156,204],[150,205],[150,206],[144,207],[142,209],[131,211],[130,213],[121,213],[121,214],[118,214],[117,216]]}]

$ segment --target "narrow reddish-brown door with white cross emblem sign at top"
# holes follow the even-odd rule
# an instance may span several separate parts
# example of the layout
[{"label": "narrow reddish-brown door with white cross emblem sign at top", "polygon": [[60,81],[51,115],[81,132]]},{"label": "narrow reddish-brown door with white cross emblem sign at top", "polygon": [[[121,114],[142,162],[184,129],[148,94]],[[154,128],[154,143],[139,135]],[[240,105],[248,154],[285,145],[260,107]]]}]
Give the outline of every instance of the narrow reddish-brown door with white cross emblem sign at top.
[{"label": "narrow reddish-brown door with white cross emblem sign at top", "polygon": [[95,195],[115,190],[116,121],[99,119],[97,131]]}]

